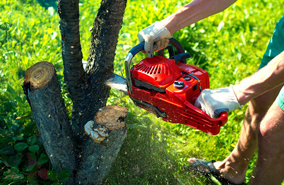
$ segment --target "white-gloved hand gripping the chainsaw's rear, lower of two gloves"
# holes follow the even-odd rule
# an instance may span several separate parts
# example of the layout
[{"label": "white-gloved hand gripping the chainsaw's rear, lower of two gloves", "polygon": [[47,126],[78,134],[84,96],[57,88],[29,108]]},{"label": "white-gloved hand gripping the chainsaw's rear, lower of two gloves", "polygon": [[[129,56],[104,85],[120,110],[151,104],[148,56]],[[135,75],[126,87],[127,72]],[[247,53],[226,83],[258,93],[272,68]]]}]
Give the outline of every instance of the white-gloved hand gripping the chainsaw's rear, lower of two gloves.
[{"label": "white-gloved hand gripping the chainsaw's rear, lower of two gloves", "polygon": [[242,108],[234,94],[233,85],[219,89],[204,89],[194,106],[206,112],[211,118],[218,118],[221,112]]}]

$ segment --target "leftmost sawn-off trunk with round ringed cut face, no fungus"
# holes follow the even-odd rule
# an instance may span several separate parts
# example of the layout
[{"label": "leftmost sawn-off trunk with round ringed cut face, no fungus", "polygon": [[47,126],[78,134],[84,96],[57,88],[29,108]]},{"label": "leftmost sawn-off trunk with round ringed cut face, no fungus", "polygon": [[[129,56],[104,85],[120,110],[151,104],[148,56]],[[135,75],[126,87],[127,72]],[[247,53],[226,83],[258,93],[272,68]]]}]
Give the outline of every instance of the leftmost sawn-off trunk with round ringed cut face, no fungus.
[{"label": "leftmost sawn-off trunk with round ringed cut face, no fungus", "polygon": [[71,178],[67,183],[72,185],[76,168],[75,147],[52,63],[38,62],[31,66],[25,74],[23,89],[52,168],[58,174],[63,169],[70,170]]}]

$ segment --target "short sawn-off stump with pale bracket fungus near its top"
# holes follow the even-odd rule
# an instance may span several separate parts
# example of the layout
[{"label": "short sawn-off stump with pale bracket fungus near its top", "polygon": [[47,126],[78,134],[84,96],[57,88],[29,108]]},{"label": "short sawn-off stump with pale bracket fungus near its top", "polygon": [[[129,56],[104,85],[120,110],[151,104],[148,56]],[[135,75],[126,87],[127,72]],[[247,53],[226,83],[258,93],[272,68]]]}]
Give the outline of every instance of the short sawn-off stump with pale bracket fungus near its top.
[{"label": "short sawn-off stump with pale bracket fungus near its top", "polygon": [[125,107],[107,106],[97,113],[96,123],[91,121],[85,126],[86,134],[92,139],[88,138],[84,144],[77,184],[98,185],[105,178],[126,138],[126,117]]}]

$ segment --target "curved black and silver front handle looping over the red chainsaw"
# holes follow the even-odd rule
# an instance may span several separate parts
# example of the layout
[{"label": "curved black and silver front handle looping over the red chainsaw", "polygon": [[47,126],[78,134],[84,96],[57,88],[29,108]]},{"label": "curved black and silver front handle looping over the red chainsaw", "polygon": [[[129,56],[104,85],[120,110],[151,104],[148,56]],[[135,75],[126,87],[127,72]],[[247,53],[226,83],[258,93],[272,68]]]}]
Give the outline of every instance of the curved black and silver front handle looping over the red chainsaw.
[{"label": "curved black and silver front handle looping over the red chainsaw", "polygon": [[[182,46],[182,44],[175,38],[170,38],[169,39],[169,44],[171,44],[172,46],[174,46],[178,53],[181,54],[181,53],[184,53],[185,50],[184,50],[184,47]],[[125,65],[125,73],[126,73],[126,81],[127,81],[127,86],[128,86],[128,89],[129,89],[129,93],[132,94],[133,93],[133,90],[132,90],[132,86],[133,86],[133,83],[132,83],[132,80],[131,80],[131,77],[130,77],[130,64],[131,64],[131,61],[134,57],[134,55],[136,55],[137,53],[139,53],[140,51],[144,50],[144,46],[145,46],[145,42],[141,42],[139,43],[138,45],[134,46],[130,51],[129,53],[127,54],[126,56],[126,59],[125,59],[125,62],[124,62],[124,65]],[[186,59],[185,58],[182,58],[180,60],[182,63],[186,63]]]}]

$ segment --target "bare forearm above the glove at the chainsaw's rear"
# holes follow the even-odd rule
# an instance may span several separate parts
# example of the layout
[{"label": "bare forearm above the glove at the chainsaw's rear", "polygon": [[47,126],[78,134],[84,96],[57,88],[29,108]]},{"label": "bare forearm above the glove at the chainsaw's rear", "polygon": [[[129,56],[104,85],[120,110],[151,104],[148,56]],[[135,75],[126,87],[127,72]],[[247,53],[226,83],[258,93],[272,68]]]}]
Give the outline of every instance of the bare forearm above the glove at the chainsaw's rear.
[{"label": "bare forearm above the glove at the chainsaw's rear", "polygon": [[239,84],[234,85],[233,89],[240,105],[244,105],[251,99],[283,83],[284,51],[251,77],[245,78]]}]

